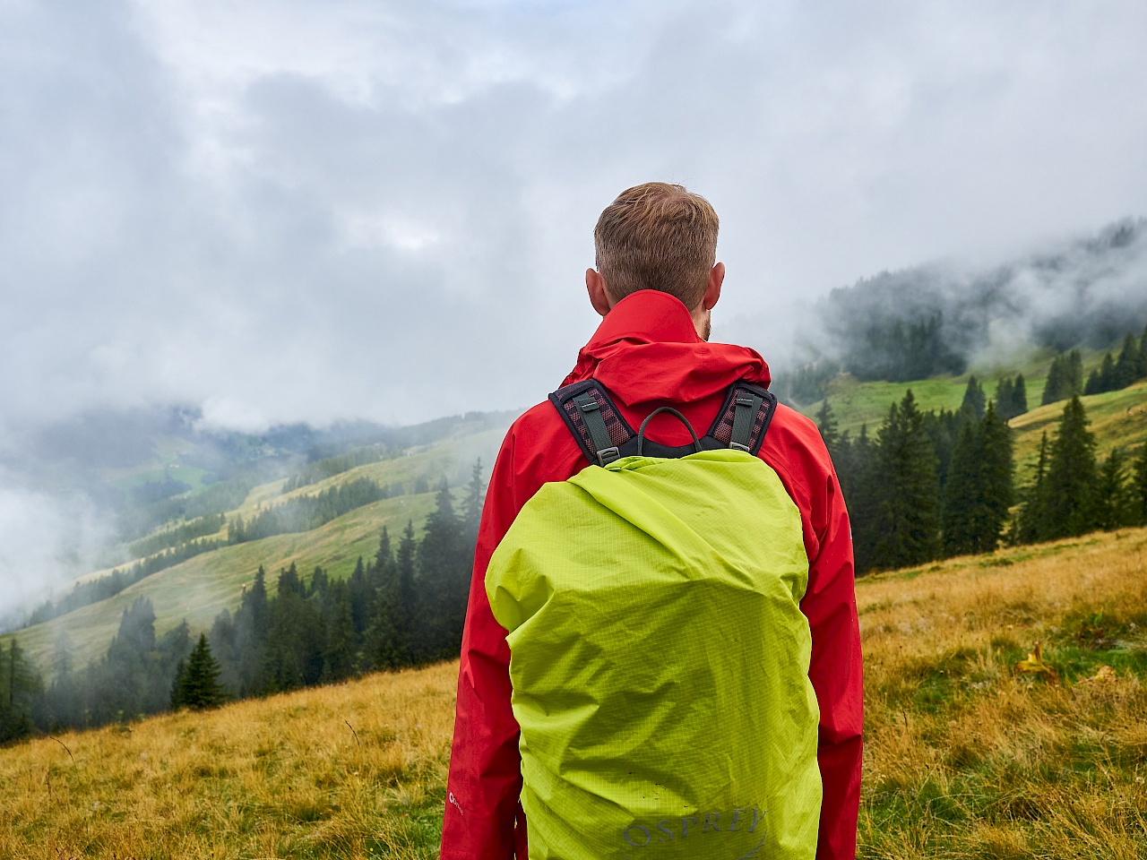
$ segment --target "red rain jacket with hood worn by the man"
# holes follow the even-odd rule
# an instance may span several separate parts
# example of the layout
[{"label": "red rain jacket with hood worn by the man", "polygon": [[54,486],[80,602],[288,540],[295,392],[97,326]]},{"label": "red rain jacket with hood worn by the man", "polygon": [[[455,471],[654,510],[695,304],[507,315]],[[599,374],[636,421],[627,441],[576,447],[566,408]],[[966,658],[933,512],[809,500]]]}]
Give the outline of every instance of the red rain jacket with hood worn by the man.
[{"label": "red rain jacket with hood worn by the man", "polygon": [[[712,423],[731,384],[747,380],[767,386],[771,378],[757,352],[702,341],[685,305],[655,290],[631,294],[614,306],[562,384],[591,376],[609,389],[631,427],[658,406],[673,406],[697,432]],[[680,422],[666,415],[654,419],[650,435],[665,445],[690,441]],[[809,677],[820,705],[817,757],[824,804],[817,858],[852,860],[864,702],[849,515],[820,433],[799,413],[777,407],[759,456],[775,470],[799,508],[809,555],[809,588],[801,609],[812,630]],[[585,466],[580,448],[548,400],[514,422],[498,454],[482,511],[462,634],[442,834],[444,860],[526,858],[509,647],[506,630],[490,610],[486,565],[538,488],[551,480],[567,480]]]}]

